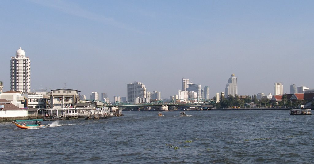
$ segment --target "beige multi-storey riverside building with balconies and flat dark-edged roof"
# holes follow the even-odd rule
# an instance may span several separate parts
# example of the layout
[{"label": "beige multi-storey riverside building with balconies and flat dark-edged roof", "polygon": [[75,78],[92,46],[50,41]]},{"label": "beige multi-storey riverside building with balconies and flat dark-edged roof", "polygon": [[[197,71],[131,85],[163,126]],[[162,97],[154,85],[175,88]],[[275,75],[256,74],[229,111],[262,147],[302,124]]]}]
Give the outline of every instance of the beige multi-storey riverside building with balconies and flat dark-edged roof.
[{"label": "beige multi-storey riverside building with balconies and flat dark-edged roof", "polygon": [[74,89],[51,90],[51,108],[76,108],[80,91]]}]

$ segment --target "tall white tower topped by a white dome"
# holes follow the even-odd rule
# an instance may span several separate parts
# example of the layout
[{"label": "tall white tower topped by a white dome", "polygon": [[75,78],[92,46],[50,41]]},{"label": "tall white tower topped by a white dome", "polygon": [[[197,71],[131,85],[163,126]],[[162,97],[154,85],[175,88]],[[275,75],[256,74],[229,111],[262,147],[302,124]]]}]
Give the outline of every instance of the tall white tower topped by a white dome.
[{"label": "tall white tower topped by a white dome", "polygon": [[30,92],[30,58],[25,57],[24,50],[19,48],[15,57],[11,57],[11,90]]}]

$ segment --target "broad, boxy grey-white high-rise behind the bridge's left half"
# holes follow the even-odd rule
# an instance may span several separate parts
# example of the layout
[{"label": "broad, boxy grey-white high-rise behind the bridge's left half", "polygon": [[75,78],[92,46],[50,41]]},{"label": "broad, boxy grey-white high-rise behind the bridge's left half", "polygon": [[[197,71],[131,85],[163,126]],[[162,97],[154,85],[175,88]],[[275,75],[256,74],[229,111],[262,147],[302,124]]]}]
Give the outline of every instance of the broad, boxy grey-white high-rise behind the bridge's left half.
[{"label": "broad, boxy grey-white high-rise behind the bridge's left half", "polygon": [[146,88],[141,82],[127,84],[127,101],[135,103],[135,98],[146,98]]}]

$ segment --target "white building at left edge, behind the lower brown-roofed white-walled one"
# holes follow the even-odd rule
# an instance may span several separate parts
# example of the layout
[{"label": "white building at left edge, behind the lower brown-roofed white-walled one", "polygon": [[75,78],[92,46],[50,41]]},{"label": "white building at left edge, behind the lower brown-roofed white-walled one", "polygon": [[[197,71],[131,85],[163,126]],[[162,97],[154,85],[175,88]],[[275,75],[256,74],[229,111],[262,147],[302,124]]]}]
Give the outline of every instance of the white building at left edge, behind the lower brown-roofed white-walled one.
[{"label": "white building at left edge, behind the lower brown-roofed white-walled one", "polygon": [[26,108],[27,107],[27,98],[22,96],[22,92],[19,91],[7,91],[0,93],[0,98],[8,100],[13,105],[19,108]]}]

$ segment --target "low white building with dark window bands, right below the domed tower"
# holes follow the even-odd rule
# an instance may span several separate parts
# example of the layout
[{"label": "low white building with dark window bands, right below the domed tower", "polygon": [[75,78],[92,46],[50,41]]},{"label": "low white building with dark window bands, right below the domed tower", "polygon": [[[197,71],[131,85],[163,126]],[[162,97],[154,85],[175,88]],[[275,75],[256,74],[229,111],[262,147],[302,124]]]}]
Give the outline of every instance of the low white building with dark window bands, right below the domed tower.
[{"label": "low white building with dark window bands, right below the domed tower", "polygon": [[44,98],[44,95],[36,94],[33,92],[22,94],[25,98],[27,98],[27,108],[46,108],[46,99]]}]

